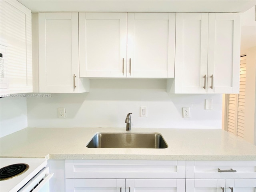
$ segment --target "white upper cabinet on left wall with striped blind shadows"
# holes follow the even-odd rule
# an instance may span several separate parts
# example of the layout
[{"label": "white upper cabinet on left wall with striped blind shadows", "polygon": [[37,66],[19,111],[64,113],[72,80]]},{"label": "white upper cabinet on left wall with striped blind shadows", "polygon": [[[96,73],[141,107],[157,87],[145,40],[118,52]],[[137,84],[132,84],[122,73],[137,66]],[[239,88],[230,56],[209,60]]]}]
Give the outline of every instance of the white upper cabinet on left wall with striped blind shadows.
[{"label": "white upper cabinet on left wall with striped blind shadows", "polygon": [[32,92],[31,11],[18,1],[1,0],[0,25],[0,44],[5,49],[6,62],[5,66],[1,62],[0,92]]}]

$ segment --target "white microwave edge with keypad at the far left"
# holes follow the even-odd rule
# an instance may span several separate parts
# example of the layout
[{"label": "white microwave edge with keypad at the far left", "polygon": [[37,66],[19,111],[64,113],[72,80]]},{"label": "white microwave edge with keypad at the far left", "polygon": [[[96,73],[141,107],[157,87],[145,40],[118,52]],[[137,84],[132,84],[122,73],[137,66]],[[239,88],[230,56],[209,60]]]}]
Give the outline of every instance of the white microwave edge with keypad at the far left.
[{"label": "white microwave edge with keypad at the far left", "polygon": [[7,47],[0,45],[0,97],[8,94]]}]

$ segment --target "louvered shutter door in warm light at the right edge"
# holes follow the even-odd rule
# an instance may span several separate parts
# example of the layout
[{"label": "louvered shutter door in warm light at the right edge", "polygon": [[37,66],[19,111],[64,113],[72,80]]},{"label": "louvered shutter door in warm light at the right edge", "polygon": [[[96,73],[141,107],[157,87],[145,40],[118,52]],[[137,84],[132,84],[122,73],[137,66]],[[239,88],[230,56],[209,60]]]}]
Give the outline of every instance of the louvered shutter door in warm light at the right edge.
[{"label": "louvered shutter door in warm light at the right edge", "polygon": [[227,94],[226,131],[244,138],[244,107],[246,84],[246,56],[240,57],[240,90],[239,94]]}]

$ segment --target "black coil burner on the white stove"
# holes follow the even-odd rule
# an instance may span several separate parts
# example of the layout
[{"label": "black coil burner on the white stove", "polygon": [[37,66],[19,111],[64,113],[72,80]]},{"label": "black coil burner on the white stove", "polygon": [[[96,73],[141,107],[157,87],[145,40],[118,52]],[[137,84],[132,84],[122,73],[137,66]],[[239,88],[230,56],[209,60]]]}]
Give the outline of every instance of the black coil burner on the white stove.
[{"label": "black coil burner on the white stove", "polygon": [[23,174],[28,170],[29,166],[25,163],[18,163],[8,165],[0,169],[0,181],[14,178],[20,174]]}]

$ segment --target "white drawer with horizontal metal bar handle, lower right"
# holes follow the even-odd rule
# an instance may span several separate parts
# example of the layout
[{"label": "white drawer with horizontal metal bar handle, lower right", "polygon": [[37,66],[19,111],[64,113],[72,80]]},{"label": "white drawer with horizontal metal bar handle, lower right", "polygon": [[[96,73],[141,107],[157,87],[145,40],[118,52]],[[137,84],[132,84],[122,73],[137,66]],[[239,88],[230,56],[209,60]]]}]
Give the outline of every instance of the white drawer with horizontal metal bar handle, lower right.
[{"label": "white drawer with horizontal metal bar handle, lower right", "polygon": [[186,161],[186,178],[256,178],[256,161]]}]

